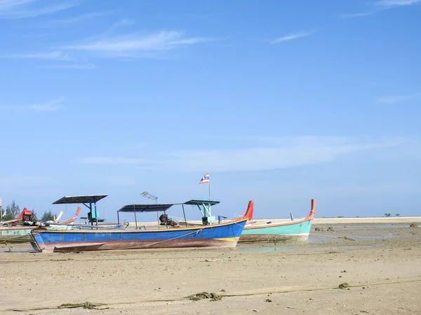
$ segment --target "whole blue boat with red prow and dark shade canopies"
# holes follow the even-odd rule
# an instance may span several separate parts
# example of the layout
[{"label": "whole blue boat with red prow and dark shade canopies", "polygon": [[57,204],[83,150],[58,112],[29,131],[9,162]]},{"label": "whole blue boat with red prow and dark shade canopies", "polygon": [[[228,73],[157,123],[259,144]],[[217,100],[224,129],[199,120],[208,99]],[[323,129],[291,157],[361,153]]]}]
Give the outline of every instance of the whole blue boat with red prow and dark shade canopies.
[{"label": "whole blue boat with red prow and dark shade canopies", "polygon": [[[180,247],[234,247],[239,241],[246,221],[253,216],[253,201],[248,203],[246,214],[232,221],[219,223],[211,215],[210,207],[219,202],[208,200],[190,200],[178,204],[182,206],[185,215],[185,205],[199,208],[202,214],[202,225],[182,227],[179,224],[163,220],[162,228],[148,230],[138,228],[137,214],[142,212],[162,211],[175,204],[128,204],[119,211],[131,212],[135,216],[135,230],[46,230],[38,228],[32,230],[34,248],[39,251],[68,252],[68,251],[102,251],[112,249],[141,249],[141,248],[180,248]],[[120,219],[119,219],[120,222]]]}]

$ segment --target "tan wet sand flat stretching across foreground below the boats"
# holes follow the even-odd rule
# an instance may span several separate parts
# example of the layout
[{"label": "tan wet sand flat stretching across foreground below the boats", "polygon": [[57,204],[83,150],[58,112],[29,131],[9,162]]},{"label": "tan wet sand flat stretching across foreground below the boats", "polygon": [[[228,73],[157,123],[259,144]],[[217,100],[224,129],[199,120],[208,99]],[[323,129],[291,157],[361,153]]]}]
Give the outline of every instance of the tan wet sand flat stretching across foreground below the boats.
[{"label": "tan wet sand flat stretching across foreground below the boats", "polygon": [[[421,228],[408,223],[314,224],[307,242],[236,248],[46,254],[11,246],[0,246],[1,314],[421,313]],[[185,298],[202,291],[222,300]],[[108,309],[54,308],[86,301]]]}]

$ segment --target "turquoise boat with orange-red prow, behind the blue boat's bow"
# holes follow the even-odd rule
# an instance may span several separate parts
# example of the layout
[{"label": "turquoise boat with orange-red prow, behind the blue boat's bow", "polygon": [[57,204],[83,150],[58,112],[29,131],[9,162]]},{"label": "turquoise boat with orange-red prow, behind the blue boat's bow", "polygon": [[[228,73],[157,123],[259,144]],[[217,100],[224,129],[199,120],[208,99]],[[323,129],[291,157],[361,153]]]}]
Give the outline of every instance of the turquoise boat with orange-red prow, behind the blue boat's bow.
[{"label": "turquoise boat with orange-red prow, behind the blue boat's bow", "polygon": [[316,209],[316,200],[312,199],[310,214],[302,219],[290,222],[255,224],[248,223],[241,233],[240,242],[253,241],[307,241],[312,228]]}]

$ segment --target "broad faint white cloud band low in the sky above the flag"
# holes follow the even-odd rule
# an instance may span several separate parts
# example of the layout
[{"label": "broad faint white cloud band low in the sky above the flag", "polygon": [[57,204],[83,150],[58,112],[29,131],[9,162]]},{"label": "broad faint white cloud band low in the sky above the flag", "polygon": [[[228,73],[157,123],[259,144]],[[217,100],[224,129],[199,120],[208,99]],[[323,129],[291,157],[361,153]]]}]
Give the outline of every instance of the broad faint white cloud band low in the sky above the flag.
[{"label": "broad faint white cloud band low in the sky above the flag", "polygon": [[253,137],[248,142],[255,146],[174,151],[164,160],[145,162],[145,166],[182,172],[199,172],[203,169],[213,172],[258,172],[331,162],[342,155],[403,143],[401,139],[367,141],[346,137],[269,137],[260,140]]}]

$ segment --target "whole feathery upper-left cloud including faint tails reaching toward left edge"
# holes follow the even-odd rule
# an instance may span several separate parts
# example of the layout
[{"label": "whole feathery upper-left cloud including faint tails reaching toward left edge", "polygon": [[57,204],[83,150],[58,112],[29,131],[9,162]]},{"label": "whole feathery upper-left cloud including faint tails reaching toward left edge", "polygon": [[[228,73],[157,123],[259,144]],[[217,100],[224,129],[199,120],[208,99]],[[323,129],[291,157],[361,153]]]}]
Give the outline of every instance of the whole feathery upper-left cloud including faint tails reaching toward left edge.
[{"label": "whole feathery upper-left cloud including faint tails reaching toward left edge", "polygon": [[155,31],[152,33],[140,31],[128,33],[127,31],[121,31],[121,29],[135,24],[135,20],[125,18],[115,22],[109,29],[98,36],[67,45],[56,45],[55,47],[50,47],[51,51],[18,52],[2,57],[66,62],[42,64],[41,66],[44,68],[94,69],[95,64],[91,62],[91,59],[95,57],[117,58],[126,61],[139,57],[165,57],[163,56],[164,52],[168,50],[217,40],[217,38],[186,36],[184,31],[175,30]]}]

